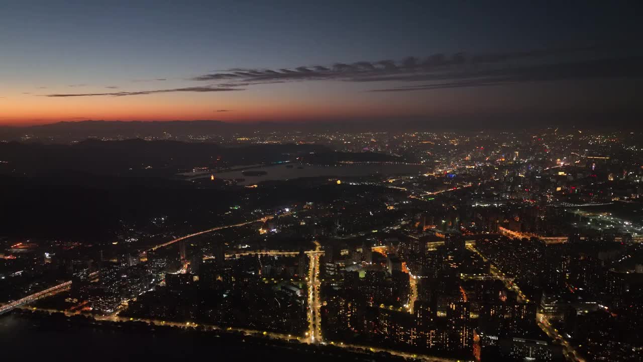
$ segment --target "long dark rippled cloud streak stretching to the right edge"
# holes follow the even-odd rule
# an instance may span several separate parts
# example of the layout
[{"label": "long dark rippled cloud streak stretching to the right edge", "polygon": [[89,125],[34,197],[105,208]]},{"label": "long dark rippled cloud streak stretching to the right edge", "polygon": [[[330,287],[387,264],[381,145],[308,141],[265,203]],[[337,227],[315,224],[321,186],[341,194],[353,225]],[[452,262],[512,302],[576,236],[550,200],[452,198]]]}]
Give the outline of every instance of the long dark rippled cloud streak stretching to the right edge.
[{"label": "long dark rippled cloud streak stretching to the right edge", "polygon": [[641,77],[643,58],[619,56],[597,48],[532,50],[527,52],[467,55],[435,54],[406,57],[401,61],[337,62],[331,66],[244,69],[199,75],[194,81],[225,84],[228,87],[296,81],[347,82],[437,82],[413,87],[374,91],[430,90],[463,86],[489,86],[509,82],[550,81],[596,77]]}]

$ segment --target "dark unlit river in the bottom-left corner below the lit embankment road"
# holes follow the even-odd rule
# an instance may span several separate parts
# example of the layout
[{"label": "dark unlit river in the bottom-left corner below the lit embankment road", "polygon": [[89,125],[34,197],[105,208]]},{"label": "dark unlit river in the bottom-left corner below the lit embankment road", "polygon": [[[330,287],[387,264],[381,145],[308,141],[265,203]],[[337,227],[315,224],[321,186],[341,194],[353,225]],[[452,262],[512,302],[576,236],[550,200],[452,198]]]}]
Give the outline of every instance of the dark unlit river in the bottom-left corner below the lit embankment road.
[{"label": "dark unlit river in the bottom-left corner below the lit embankment road", "polygon": [[[356,354],[336,347],[197,332],[147,325],[83,325],[46,314],[10,312],[0,316],[3,361],[385,361],[390,357]],[[400,359],[401,360],[401,359]]]}]

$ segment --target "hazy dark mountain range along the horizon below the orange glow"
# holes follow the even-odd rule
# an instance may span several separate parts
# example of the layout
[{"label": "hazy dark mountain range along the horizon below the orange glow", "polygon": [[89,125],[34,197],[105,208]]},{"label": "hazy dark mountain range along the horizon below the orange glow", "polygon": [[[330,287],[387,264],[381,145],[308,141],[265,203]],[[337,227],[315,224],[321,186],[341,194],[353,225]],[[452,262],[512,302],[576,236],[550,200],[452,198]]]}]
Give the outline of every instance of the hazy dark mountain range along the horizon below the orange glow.
[{"label": "hazy dark mountain range along the horizon below the orange glow", "polygon": [[223,122],[221,120],[121,121],[81,120],[37,126],[0,126],[0,140],[39,140],[40,142],[71,142],[86,138],[178,138],[186,136],[221,135],[269,131],[476,131],[600,128],[640,130],[640,119],[632,113],[597,114],[529,114],[471,115],[467,117],[406,117],[390,120],[333,120],[332,122]]}]

